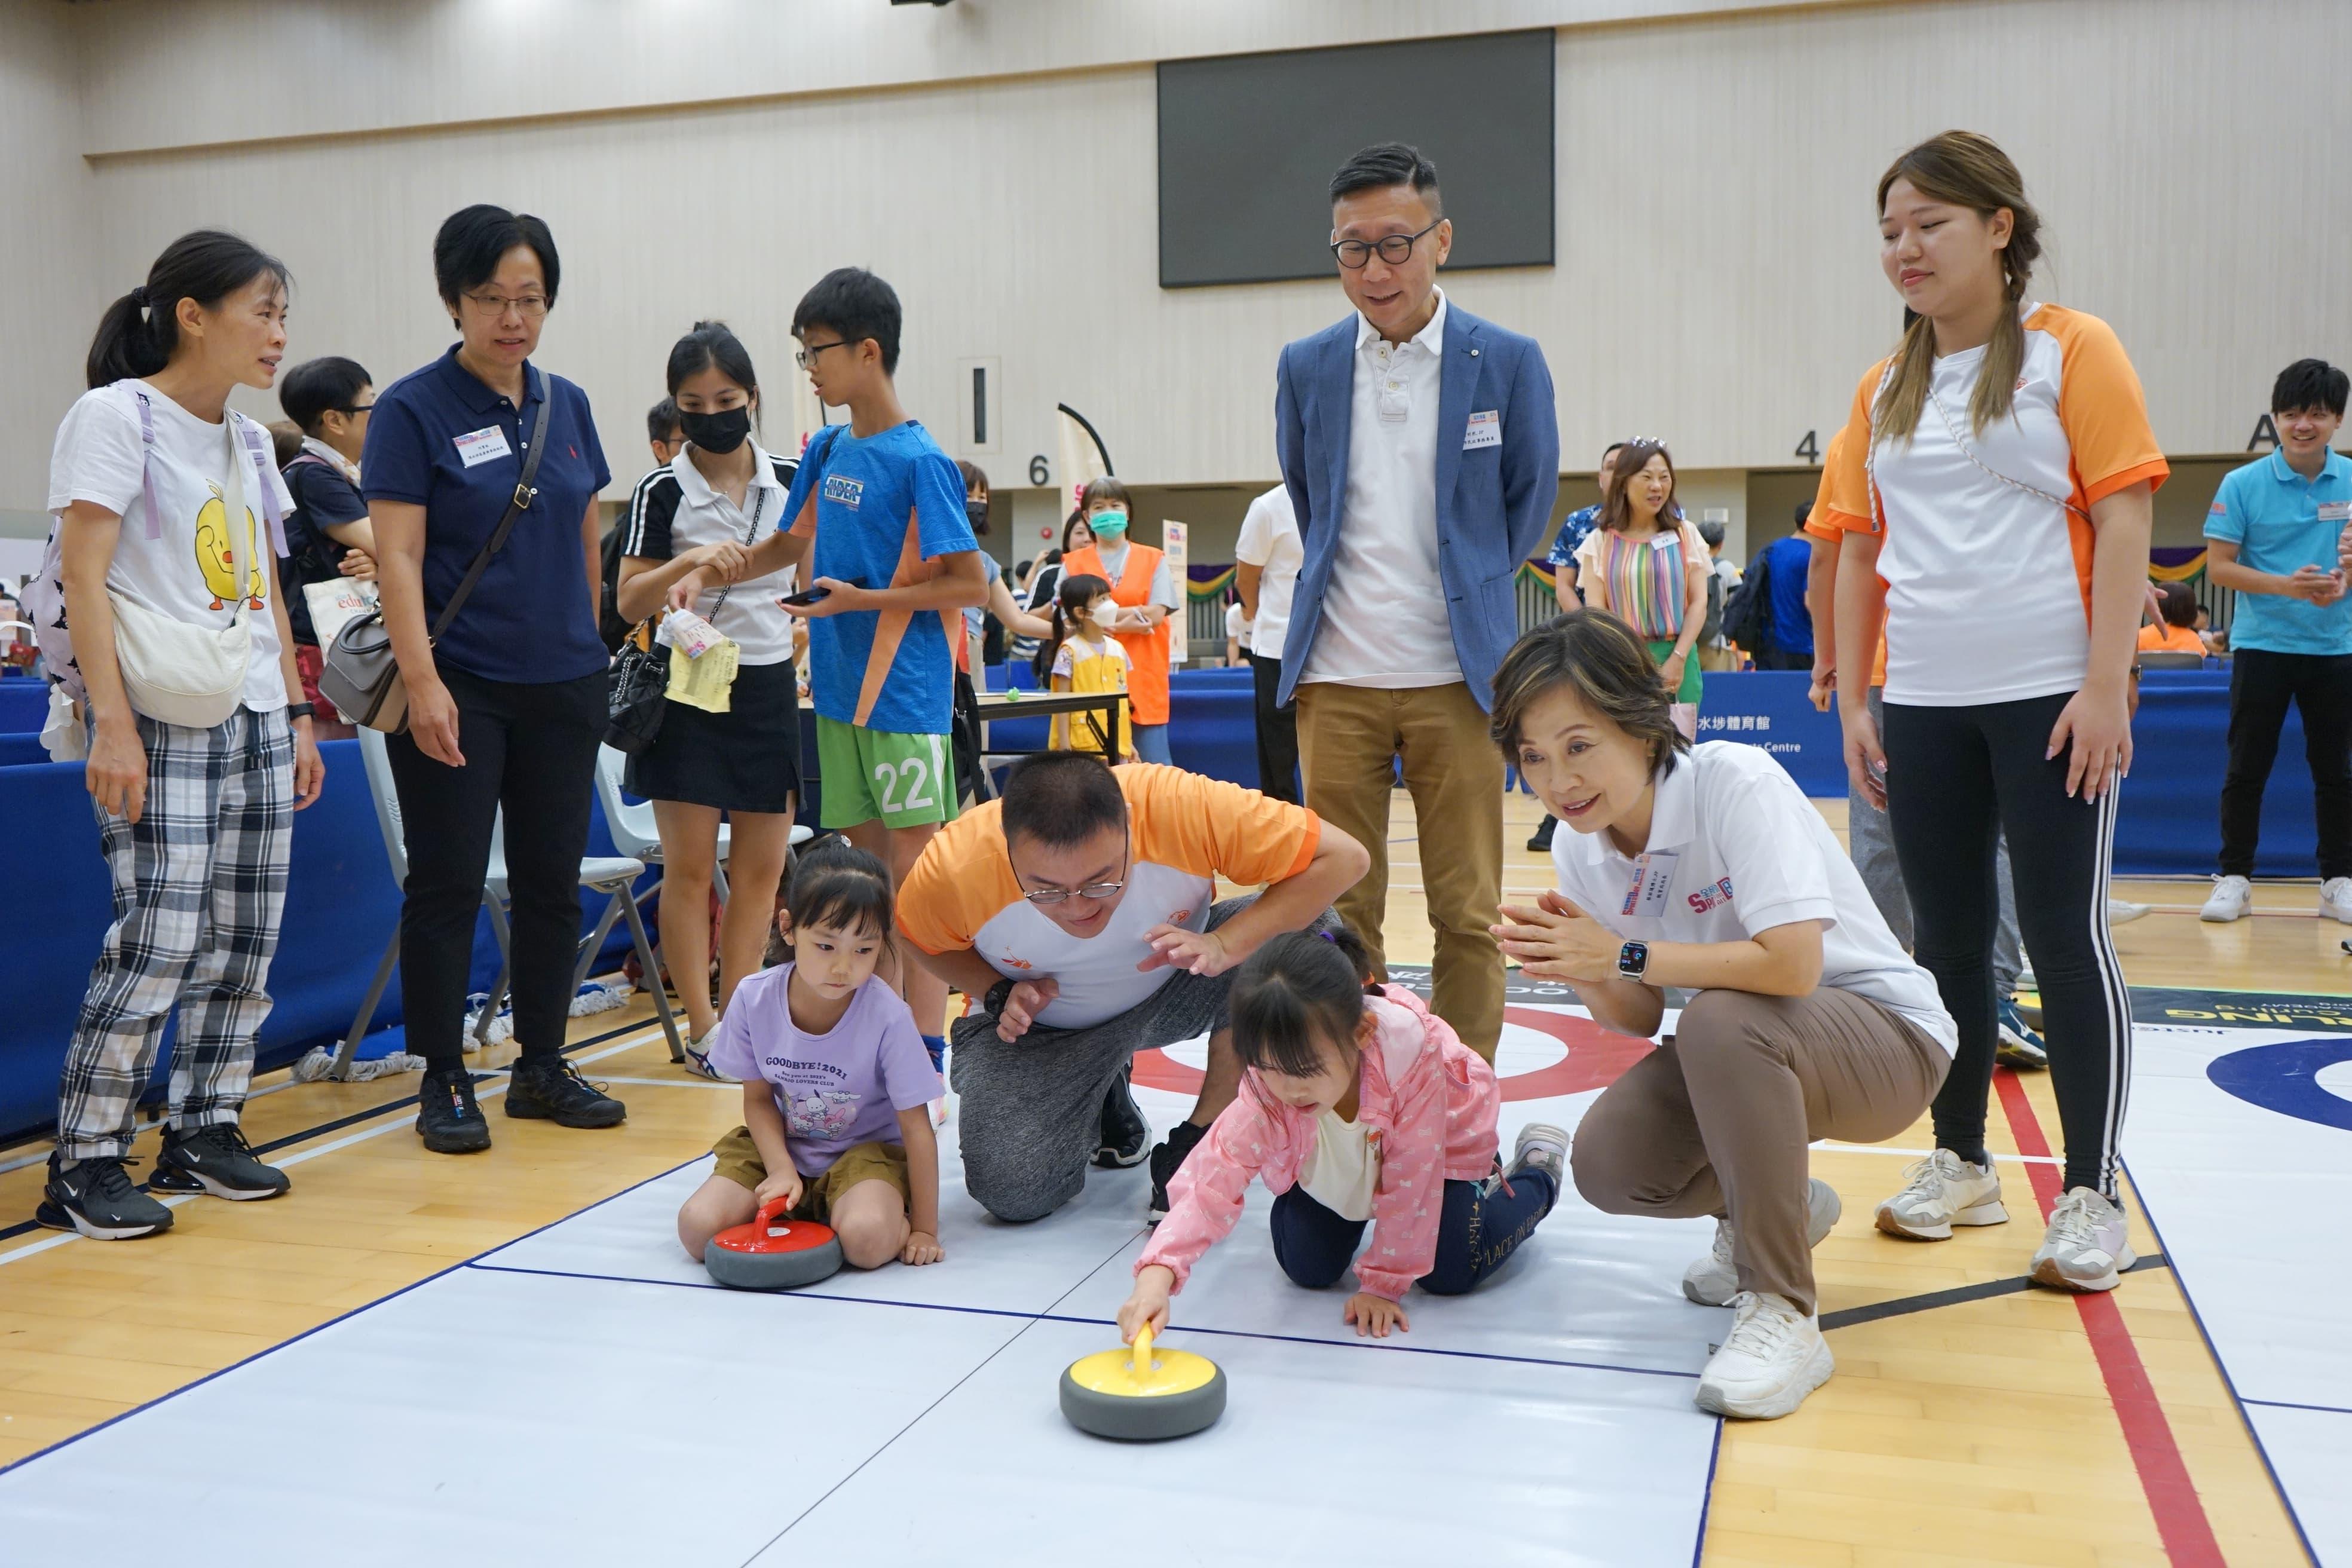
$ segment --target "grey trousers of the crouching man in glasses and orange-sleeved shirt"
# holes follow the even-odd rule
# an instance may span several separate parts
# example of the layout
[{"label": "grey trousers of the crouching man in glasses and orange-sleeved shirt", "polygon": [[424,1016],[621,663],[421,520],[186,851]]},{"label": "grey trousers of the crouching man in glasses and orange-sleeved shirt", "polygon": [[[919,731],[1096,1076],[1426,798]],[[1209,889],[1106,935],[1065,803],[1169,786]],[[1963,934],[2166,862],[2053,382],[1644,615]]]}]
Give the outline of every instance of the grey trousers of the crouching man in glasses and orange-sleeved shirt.
[{"label": "grey trousers of the crouching man in glasses and orange-sleeved shirt", "polygon": [[[1254,898],[1209,910],[1216,931]],[[1042,1220],[1087,1185],[1101,1147],[1103,1098],[1136,1051],[1174,1046],[1225,1027],[1232,971],[1176,971],[1145,1001],[1082,1030],[1033,1023],[1028,1034],[997,1039],[995,1013],[955,1020],[948,1079],[964,1150],[964,1190],[1000,1220]]]}]

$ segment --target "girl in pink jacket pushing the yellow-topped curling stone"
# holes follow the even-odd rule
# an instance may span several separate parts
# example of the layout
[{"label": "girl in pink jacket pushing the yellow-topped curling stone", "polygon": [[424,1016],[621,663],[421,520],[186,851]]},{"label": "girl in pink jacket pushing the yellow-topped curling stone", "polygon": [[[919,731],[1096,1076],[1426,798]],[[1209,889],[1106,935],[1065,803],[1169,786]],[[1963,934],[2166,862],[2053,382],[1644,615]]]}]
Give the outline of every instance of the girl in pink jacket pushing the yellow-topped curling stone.
[{"label": "girl in pink jacket pushing the yellow-topped curling stone", "polygon": [[[1169,1295],[1232,1232],[1249,1178],[1275,1194],[1275,1260],[1310,1291],[1355,1265],[1341,1319],[1411,1328],[1404,1291],[1461,1295],[1503,1267],[1562,1190],[1569,1135],[1534,1124],[1496,1173],[1494,1067],[1397,985],[1369,987],[1350,933],[1277,936],[1232,980],[1242,1093],[1185,1159],[1136,1262],[1120,1335],[1167,1328]],[[1357,1258],[1364,1229],[1371,1246]]]}]

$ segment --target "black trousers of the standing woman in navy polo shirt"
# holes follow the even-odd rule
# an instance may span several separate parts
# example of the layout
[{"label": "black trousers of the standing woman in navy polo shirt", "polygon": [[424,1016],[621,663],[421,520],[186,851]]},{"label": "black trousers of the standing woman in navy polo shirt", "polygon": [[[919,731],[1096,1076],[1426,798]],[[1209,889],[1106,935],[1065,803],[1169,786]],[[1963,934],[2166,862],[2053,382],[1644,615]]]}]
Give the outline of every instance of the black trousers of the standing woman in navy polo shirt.
[{"label": "black trousers of the standing woman in navy polo shirt", "polygon": [[452,769],[409,736],[386,745],[409,851],[400,905],[400,1004],[409,1051],[430,1067],[463,1060],[466,983],[489,835],[506,809],[515,1044],[524,1056],[564,1046],[572,964],[581,940],[581,856],[604,738],[604,672],[524,686],[442,665],[456,698]]}]

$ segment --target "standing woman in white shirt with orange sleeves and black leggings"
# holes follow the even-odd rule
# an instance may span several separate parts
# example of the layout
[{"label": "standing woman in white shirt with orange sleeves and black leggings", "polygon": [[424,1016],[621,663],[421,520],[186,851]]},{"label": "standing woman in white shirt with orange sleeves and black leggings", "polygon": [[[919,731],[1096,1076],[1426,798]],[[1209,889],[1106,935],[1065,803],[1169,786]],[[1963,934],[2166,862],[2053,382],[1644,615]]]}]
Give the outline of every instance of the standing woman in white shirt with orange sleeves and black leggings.
[{"label": "standing woman in white shirt with orange sleeves and black leggings", "polygon": [[[2065,1197],[2030,1272],[2112,1291],[2136,1258],[2117,1204],[2131,997],[2105,893],[2150,496],[2169,470],[2114,331],[2027,299],[2042,219],[2002,148],[1933,136],[1886,169],[1877,207],[1905,329],[1863,374],[1830,475],[1849,534],[1837,705],[1853,790],[1893,825],[1915,952],[1959,1025],[1936,1152],[1877,1222],[1940,1241],[2009,1218],[1985,1154],[2006,832],[2065,1131]],[[1882,607],[1884,750],[1865,703]]]}]

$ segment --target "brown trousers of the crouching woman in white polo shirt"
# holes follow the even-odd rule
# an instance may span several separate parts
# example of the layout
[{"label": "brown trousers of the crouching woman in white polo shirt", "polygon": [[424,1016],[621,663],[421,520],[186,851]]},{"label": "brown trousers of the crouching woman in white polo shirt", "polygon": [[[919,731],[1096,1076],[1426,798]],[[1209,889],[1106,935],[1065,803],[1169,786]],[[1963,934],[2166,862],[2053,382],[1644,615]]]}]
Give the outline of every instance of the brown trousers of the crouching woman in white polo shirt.
[{"label": "brown trousers of the crouching woman in white polo shirt", "polygon": [[1602,1213],[1729,1213],[1740,1291],[1813,1312],[1806,1143],[1893,1138],[1950,1067],[1924,1030],[1853,992],[1700,992],[1585,1112],[1576,1190]]}]

